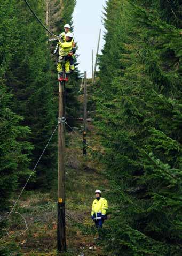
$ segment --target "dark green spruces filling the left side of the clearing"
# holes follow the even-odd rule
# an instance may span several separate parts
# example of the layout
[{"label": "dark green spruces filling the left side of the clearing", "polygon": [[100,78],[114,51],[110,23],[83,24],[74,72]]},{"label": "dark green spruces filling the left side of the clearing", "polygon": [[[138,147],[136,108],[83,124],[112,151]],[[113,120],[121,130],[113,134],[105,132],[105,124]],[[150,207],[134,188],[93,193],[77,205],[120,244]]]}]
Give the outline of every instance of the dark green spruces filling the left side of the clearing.
[{"label": "dark green spruces filling the left side of the clearing", "polygon": [[[60,1],[62,12],[54,24],[55,34],[64,30],[65,22],[72,22],[75,3],[75,0]],[[32,0],[29,4],[45,24],[45,1]],[[25,1],[1,3],[0,28],[0,207],[3,212],[8,209],[7,199],[12,192],[25,184],[57,125],[58,82],[52,43],[48,43],[46,31]],[[78,76],[76,69],[68,85],[67,116],[73,116],[78,107],[74,95]],[[51,189],[56,185],[56,177],[57,135],[54,135],[28,189]]]}]

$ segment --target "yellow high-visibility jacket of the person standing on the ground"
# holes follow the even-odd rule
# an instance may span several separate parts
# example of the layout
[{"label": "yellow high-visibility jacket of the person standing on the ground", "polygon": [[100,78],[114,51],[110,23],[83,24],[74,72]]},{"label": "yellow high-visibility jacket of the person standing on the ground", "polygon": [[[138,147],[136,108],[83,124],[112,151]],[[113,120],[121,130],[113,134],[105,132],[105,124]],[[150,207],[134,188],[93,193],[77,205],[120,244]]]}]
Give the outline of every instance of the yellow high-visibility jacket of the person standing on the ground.
[{"label": "yellow high-visibility jacket of the person standing on the ground", "polygon": [[92,204],[92,219],[101,219],[103,215],[106,215],[107,209],[108,204],[105,198],[95,199]]}]

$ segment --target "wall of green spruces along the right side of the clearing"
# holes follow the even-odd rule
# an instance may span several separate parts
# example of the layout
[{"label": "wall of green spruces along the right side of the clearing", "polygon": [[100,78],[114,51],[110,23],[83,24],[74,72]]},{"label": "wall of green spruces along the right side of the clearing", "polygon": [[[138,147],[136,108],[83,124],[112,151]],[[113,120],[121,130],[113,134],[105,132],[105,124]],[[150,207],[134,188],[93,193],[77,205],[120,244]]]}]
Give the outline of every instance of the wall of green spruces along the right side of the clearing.
[{"label": "wall of green spruces along the right side of the clearing", "polygon": [[107,1],[95,100],[116,255],[182,253],[180,21],[179,1]]}]

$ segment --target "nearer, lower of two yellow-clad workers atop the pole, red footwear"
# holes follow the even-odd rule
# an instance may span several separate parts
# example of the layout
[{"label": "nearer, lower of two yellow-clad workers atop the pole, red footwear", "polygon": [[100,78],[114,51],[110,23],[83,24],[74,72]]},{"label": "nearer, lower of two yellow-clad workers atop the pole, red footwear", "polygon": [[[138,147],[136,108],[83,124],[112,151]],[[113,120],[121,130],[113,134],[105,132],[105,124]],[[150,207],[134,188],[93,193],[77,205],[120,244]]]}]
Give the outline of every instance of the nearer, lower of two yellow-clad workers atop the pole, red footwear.
[{"label": "nearer, lower of two yellow-clad workers atop the pole, red footwear", "polygon": [[[59,46],[59,59],[58,59],[58,65],[57,65],[57,70],[59,73],[58,81],[65,80],[67,82],[69,79],[70,69],[72,71],[74,71],[75,69],[74,64],[70,64],[70,60],[72,59],[72,56],[74,53],[73,48],[75,46],[73,42],[73,34],[68,31],[65,34],[65,40],[64,40],[64,37],[59,39],[58,46]],[[65,79],[63,77],[64,69],[66,73]]]}]

